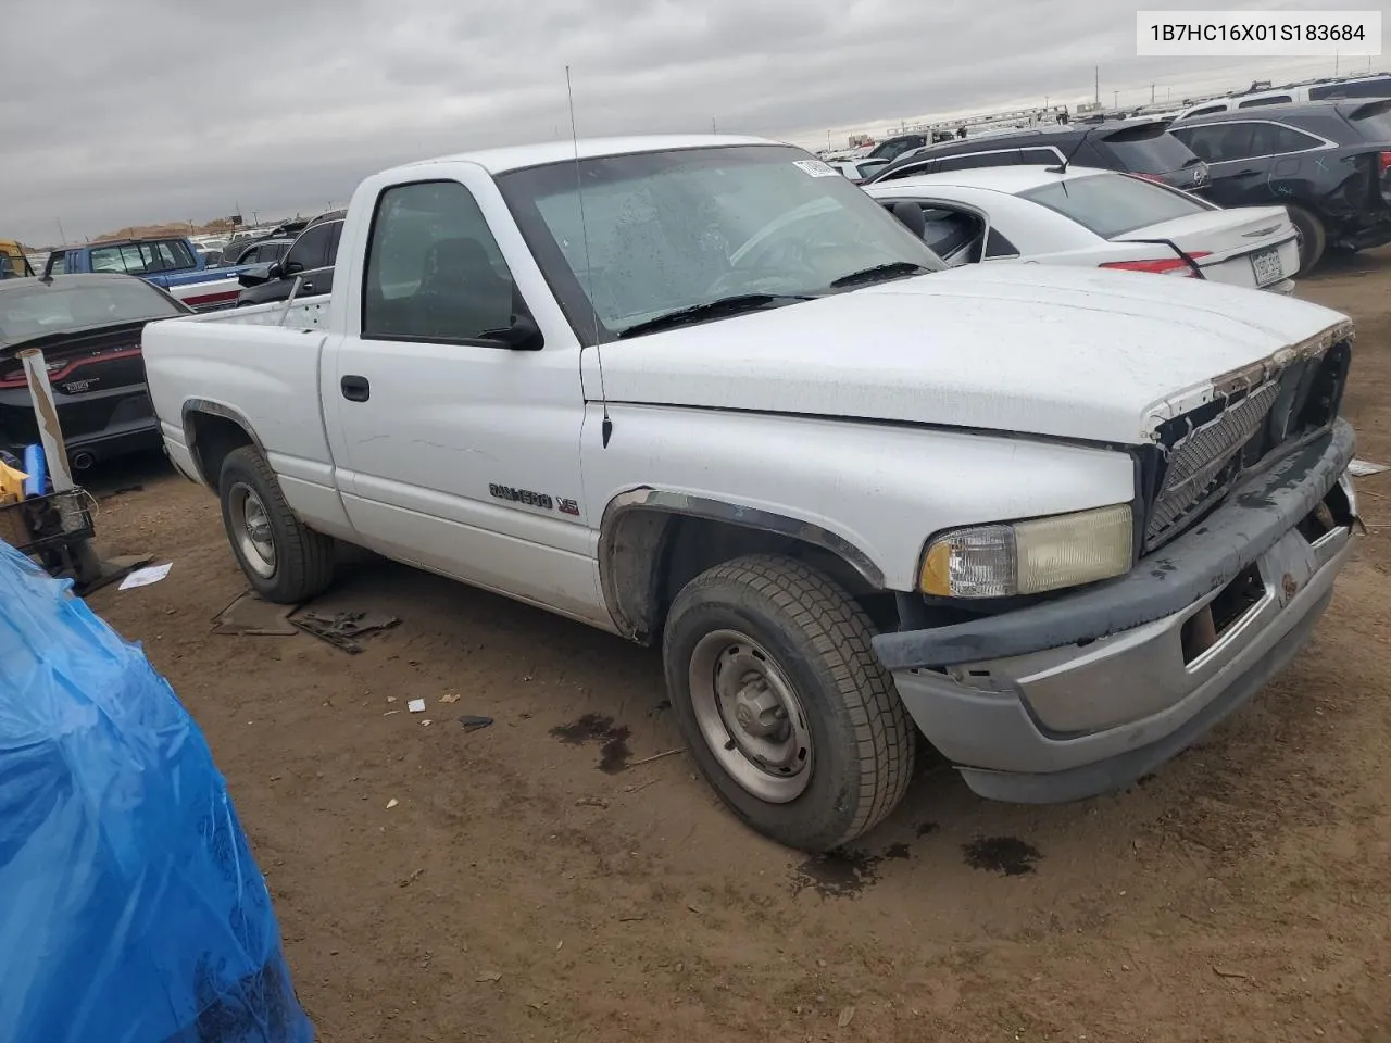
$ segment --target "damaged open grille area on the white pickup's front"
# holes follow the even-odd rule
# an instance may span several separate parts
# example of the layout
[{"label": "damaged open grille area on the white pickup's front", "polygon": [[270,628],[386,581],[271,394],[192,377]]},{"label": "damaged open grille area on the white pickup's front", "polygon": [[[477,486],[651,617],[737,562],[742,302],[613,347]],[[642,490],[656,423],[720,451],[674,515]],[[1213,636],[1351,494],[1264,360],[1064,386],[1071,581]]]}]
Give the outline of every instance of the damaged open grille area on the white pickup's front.
[{"label": "damaged open grille area on the white pickup's front", "polygon": [[[1163,423],[1141,455],[1142,553],[1163,547],[1216,508],[1241,476],[1281,446],[1333,424],[1352,348],[1340,341]],[[1256,382],[1256,377],[1262,382]]]}]

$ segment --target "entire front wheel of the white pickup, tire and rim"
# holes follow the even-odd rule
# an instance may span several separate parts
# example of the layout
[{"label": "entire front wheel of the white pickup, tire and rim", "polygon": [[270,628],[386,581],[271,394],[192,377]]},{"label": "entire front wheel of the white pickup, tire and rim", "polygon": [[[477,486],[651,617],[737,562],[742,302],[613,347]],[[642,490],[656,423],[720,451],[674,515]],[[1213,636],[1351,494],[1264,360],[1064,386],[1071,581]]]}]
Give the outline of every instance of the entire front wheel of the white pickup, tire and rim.
[{"label": "entire front wheel of the white pickup, tire and rim", "polygon": [[725,804],[782,844],[840,847],[908,786],[912,722],[869,637],[837,584],[787,558],[718,565],[672,604],[664,656],[682,734]]}]

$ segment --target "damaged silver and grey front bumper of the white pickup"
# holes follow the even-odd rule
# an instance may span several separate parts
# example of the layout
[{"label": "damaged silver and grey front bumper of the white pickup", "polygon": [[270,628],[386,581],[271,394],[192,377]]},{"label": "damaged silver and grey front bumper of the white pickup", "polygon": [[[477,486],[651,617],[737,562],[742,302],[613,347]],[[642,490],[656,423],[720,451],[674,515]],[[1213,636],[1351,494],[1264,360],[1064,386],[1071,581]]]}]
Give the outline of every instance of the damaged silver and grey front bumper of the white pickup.
[{"label": "damaged silver and grey front bumper of the white pickup", "polygon": [[1237,709],[1308,638],[1352,551],[1353,446],[1337,421],[1118,580],[881,634],[875,651],[976,793],[1056,802],[1124,787]]}]

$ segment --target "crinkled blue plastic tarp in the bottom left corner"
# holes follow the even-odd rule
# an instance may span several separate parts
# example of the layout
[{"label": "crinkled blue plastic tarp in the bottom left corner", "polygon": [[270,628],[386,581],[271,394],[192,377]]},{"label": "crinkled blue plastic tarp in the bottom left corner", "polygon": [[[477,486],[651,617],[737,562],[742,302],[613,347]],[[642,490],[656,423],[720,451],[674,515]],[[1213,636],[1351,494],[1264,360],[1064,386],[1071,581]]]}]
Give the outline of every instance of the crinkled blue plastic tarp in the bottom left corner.
[{"label": "crinkled blue plastic tarp in the bottom left corner", "polygon": [[0,1043],[310,1043],[202,731],[68,585],[0,542]]}]

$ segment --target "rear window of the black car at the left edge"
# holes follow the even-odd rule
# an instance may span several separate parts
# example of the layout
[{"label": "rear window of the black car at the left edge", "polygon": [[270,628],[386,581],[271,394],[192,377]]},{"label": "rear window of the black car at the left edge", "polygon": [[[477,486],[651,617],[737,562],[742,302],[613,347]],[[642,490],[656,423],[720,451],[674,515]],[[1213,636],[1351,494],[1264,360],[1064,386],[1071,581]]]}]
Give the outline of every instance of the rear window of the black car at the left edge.
[{"label": "rear window of the black car at the left edge", "polygon": [[13,345],[50,334],[179,314],[185,314],[185,309],[177,302],[135,278],[88,282],[70,277],[51,284],[25,280],[0,292],[0,341]]}]

